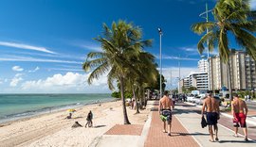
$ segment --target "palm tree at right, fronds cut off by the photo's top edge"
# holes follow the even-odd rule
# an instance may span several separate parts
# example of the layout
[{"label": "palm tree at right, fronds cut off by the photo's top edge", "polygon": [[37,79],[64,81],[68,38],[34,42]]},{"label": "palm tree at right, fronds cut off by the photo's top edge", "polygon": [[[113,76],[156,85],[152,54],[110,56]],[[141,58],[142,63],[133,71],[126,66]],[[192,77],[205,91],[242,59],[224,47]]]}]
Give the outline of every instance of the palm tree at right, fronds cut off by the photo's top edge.
[{"label": "palm tree at right, fronds cut off by the photo's top edge", "polygon": [[[192,31],[201,35],[205,34],[197,43],[199,54],[205,50],[204,45],[212,51],[218,47],[220,59],[228,65],[229,82],[231,82],[229,68],[229,37],[232,35],[235,41],[247,54],[256,59],[256,32],[255,12],[249,8],[248,0],[219,0],[212,10],[213,22],[192,24]],[[229,83],[229,98],[231,98],[231,83]]]}]

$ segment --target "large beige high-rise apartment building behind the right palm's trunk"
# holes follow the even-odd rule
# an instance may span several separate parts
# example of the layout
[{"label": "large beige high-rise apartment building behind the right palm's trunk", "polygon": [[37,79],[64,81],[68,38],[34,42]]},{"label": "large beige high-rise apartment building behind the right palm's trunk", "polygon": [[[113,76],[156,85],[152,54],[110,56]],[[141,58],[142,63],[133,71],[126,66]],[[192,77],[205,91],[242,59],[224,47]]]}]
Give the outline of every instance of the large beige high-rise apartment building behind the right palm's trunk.
[{"label": "large beige high-rise apartment building behind the right palm's trunk", "polygon": [[210,90],[229,88],[229,84],[233,90],[255,90],[255,71],[255,60],[244,51],[231,50],[229,66],[221,62],[220,57],[210,57]]}]

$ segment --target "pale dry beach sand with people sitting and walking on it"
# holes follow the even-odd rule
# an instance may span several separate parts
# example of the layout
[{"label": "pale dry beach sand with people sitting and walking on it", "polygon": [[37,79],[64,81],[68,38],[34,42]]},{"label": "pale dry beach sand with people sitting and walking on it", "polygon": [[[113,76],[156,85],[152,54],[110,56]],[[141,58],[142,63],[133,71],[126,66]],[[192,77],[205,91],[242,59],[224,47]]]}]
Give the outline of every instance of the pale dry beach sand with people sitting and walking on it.
[{"label": "pale dry beach sand with people sitting and walking on it", "polygon": [[[88,146],[115,124],[123,123],[120,101],[83,106],[76,110],[70,120],[64,119],[68,112],[61,111],[9,122],[0,127],[0,146]],[[89,110],[94,116],[93,128],[84,127]],[[135,112],[127,107],[130,122],[144,124],[149,110],[141,110],[139,114]],[[83,127],[71,128],[74,122],[81,123]]]}]

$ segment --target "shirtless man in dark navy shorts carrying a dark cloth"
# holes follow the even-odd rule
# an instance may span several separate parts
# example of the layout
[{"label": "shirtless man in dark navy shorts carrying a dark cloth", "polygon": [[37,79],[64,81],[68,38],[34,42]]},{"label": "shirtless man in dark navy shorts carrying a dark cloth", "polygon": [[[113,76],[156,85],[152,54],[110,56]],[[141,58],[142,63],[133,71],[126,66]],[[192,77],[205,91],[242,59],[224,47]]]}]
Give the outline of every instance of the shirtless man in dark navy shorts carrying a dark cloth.
[{"label": "shirtless man in dark navy shorts carrying a dark cloth", "polygon": [[[206,111],[206,116],[207,116],[207,122],[209,125],[209,133],[210,133],[210,142],[213,142],[213,128],[214,128],[214,133],[215,133],[215,140],[218,141],[218,120],[220,117],[220,107],[219,107],[219,102],[214,99],[208,91],[207,97],[204,100],[204,104],[202,107],[202,117],[204,116],[204,113]],[[213,128],[212,128],[213,126]]]}]

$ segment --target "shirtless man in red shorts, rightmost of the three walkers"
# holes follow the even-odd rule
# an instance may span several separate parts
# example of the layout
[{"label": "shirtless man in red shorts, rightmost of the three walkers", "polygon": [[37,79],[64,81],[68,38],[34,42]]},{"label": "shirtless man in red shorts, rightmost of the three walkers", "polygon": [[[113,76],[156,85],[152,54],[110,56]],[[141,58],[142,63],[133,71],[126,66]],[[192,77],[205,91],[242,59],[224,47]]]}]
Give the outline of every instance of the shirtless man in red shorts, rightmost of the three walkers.
[{"label": "shirtless man in red shorts, rightmost of the three walkers", "polygon": [[236,138],[238,137],[237,132],[238,132],[238,127],[239,127],[239,123],[240,123],[240,126],[244,130],[245,141],[248,141],[248,139],[247,139],[247,122],[246,122],[248,108],[247,108],[246,102],[243,101],[242,99],[239,99],[239,96],[237,93],[233,94],[231,111],[232,111],[232,115],[233,115],[233,124],[234,124],[234,131],[235,131],[234,137],[236,137]]}]

